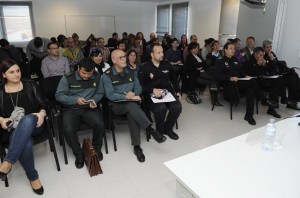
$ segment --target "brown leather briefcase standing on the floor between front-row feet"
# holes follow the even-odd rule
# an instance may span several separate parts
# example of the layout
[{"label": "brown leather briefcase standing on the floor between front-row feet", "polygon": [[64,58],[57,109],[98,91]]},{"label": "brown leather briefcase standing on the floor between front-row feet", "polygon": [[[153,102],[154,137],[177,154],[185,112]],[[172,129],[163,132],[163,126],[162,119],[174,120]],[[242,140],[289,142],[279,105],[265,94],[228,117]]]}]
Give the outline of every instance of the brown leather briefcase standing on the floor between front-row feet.
[{"label": "brown leather briefcase standing on the floor between front-row feet", "polygon": [[89,138],[83,139],[82,151],[84,154],[85,165],[88,168],[91,177],[102,174],[97,152],[95,151],[92,142]]}]

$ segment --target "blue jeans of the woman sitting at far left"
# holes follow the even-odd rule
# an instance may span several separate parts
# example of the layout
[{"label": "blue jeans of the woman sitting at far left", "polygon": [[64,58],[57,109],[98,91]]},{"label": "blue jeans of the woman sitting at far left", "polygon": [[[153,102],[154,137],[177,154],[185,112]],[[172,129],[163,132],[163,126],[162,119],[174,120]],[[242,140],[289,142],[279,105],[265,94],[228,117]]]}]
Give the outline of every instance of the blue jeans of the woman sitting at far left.
[{"label": "blue jeans of the woman sitting at far left", "polygon": [[34,181],[39,177],[34,167],[32,135],[42,132],[44,125],[36,128],[37,120],[37,116],[32,114],[25,115],[20,120],[18,127],[10,136],[8,152],[4,159],[12,164],[19,160],[30,181]]}]

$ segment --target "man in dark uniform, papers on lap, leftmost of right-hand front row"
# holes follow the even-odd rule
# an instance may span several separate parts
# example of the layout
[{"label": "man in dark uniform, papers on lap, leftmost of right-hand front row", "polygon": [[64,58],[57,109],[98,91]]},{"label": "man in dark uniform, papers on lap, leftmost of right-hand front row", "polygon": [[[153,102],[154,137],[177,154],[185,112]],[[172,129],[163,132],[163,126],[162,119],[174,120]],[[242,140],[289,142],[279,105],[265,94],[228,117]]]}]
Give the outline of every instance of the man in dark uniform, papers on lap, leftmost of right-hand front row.
[{"label": "man in dark uniform, papers on lap, leftmost of right-hand front row", "polygon": [[266,99],[259,89],[256,81],[252,78],[250,80],[242,80],[245,73],[238,60],[234,57],[234,44],[226,43],[224,45],[225,56],[217,60],[215,65],[216,79],[219,84],[224,87],[224,94],[231,103],[237,103],[237,94],[243,91],[246,94],[246,114],[244,119],[251,125],[256,125],[253,118],[254,114],[254,99],[255,97],[262,99],[270,108],[276,106]]}]

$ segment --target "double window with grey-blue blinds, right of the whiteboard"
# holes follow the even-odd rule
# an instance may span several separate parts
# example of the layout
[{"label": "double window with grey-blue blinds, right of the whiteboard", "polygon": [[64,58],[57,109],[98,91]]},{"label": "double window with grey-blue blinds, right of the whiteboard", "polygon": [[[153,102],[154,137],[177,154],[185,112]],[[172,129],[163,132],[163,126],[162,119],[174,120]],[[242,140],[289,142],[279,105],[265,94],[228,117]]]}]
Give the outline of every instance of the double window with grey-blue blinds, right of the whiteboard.
[{"label": "double window with grey-blue blinds, right of the whiteboard", "polygon": [[157,6],[156,33],[159,38],[165,33],[180,39],[187,34],[188,2]]}]

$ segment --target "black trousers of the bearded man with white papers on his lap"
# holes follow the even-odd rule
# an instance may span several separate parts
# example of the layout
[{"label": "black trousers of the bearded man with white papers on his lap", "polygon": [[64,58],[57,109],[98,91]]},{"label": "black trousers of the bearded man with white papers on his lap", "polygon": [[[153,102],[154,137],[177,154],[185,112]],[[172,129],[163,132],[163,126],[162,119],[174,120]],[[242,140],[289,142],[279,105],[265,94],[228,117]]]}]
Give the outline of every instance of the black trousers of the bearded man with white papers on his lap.
[{"label": "black trousers of the bearded man with white papers on his lap", "polygon": [[[173,131],[173,127],[178,119],[182,106],[179,100],[166,103],[150,103],[150,109],[154,114],[156,130],[160,133]],[[167,119],[167,111],[169,110]]]}]

